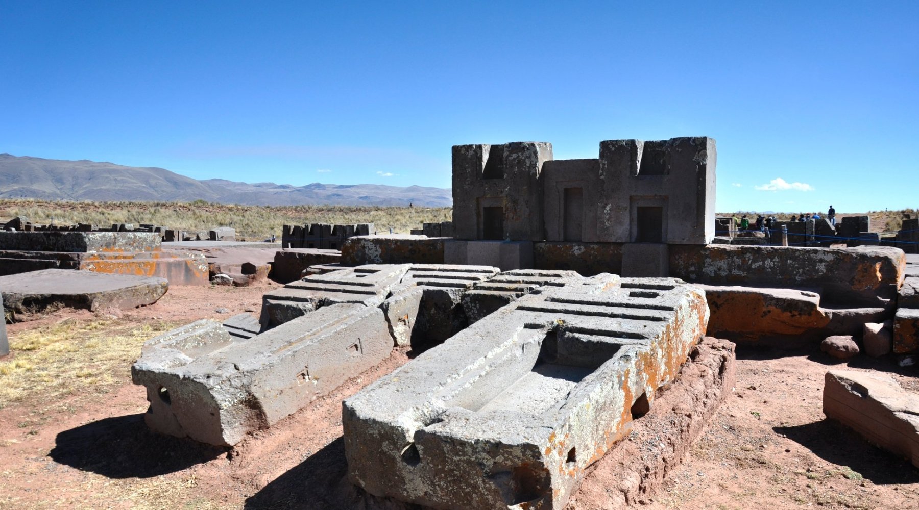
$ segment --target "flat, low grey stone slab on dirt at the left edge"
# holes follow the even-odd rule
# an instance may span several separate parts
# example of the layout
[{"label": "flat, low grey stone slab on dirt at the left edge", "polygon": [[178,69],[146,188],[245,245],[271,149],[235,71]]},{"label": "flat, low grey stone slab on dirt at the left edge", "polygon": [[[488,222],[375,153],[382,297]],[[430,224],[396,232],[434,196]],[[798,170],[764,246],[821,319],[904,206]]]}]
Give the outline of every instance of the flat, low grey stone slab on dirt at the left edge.
[{"label": "flat, low grey stone slab on dirt at the left edge", "polygon": [[168,288],[164,278],[60,269],[0,276],[6,309],[14,314],[53,305],[91,311],[153,305]]}]

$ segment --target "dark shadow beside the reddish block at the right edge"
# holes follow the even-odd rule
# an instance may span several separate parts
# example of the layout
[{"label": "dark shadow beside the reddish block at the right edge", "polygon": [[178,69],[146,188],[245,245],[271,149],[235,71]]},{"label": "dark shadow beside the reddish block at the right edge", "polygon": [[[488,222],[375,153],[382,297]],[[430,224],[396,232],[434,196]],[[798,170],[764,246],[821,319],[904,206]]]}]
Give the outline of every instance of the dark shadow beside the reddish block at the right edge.
[{"label": "dark shadow beside the reddish block at the right edge", "polygon": [[919,482],[919,470],[887,450],[868,443],[853,430],[834,420],[821,421],[798,427],[773,427],[814,455],[840,466],[848,466],[877,485]]}]

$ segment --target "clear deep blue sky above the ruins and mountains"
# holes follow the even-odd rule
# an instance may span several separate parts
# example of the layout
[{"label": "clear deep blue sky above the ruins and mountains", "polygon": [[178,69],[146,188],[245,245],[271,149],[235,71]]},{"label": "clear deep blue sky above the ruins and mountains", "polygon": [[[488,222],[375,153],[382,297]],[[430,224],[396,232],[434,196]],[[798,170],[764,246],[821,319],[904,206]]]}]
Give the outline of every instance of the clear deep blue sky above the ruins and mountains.
[{"label": "clear deep blue sky above the ruins and mountains", "polygon": [[917,207],[917,26],[914,1],[9,0],[0,152],[448,187],[455,144],[705,135],[719,211]]}]

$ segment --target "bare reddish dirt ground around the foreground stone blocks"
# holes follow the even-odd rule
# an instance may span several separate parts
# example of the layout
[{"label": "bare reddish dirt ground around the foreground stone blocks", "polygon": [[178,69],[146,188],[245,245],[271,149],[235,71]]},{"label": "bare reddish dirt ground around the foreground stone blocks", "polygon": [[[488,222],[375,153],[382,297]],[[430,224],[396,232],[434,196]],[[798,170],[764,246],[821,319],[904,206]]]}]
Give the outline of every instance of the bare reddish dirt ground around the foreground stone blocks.
[{"label": "bare reddish dirt ground around the foreground stone blocks", "polygon": [[[160,303],[119,320],[257,314],[268,287],[176,287]],[[221,307],[229,313],[215,312]],[[36,327],[96,317],[59,312],[12,325],[9,332],[15,344]],[[129,350],[134,358],[142,339],[137,342]],[[735,391],[664,490],[642,508],[919,508],[919,470],[824,419],[823,374],[830,360],[819,350],[741,347],[738,355]],[[113,365],[115,383],[104,394],[43,398],[37,388],[0,408],[0,507],[328,507],[330,494],[348,490],[339,482],[341,400],[407,360],[396,351],[335,394],[229,450],[151,433],[142,421],[144,391],[130,383],[130,359]],[[858,358],[849,366],[893,371],[904,386],[917,386],[914,367],[894,370],[892,360]],[[0,373],[0,384],[4,377]],[[304,478],[312,483],[299,483]],[[602,497],[581,498],[577,506],[603,507]]]}]

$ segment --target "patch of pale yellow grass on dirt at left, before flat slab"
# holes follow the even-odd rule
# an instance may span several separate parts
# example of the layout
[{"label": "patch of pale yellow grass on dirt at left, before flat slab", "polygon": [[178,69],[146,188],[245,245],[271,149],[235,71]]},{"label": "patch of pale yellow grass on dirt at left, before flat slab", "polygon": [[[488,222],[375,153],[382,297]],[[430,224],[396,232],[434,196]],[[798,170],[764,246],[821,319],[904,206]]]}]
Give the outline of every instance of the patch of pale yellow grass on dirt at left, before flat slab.
[{"label": "patch of pale yellow grass on dirt at left, before flat slab", "polygon": [[52,404],[71,394],[106,394],[130,381],[130,363],[144,341],[175,326],[67,318],[11,335],[14,358],[0,362],[0,408],[26,400]]}]

